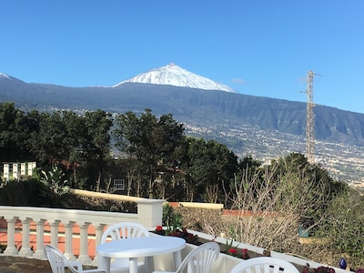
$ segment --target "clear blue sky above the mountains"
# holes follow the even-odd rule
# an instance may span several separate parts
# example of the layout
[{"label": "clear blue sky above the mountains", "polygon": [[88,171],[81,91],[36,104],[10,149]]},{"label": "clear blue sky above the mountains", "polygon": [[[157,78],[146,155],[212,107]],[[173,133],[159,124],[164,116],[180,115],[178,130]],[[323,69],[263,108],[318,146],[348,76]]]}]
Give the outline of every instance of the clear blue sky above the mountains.
[{"label": "clear blue sky above the mountains", "polygon": [[174,63],[238,92],[364,113],[362,0],[0,0],[0,72],[112,86]]}]

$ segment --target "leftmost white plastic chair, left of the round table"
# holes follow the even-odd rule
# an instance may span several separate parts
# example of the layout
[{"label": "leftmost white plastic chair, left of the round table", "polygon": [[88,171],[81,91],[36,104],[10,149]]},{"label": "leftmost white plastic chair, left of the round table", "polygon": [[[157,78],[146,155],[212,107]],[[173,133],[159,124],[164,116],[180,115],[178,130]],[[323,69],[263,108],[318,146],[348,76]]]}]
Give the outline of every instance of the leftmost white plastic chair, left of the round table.
[{"label": "leftmost white plastic chair, left of the round table", "polygon": [[84,269],[79,262],[69,261],[58,249],[50,245],[45,246],[45,256],[49,261],[53,273],[65,273],[69,268],[73,273],[106,273],[103,269]]}]

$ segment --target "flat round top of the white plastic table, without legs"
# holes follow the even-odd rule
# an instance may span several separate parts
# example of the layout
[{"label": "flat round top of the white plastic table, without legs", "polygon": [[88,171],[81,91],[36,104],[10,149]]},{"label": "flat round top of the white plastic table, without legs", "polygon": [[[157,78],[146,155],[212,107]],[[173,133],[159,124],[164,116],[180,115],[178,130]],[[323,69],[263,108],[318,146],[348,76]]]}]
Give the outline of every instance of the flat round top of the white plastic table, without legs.
[{"label": "flat round top of the white plastic table, without legs", "polygon": [[186,240],[171,236],[149,236],[113,240],[97,246],[97,255],[109,258],[137,258],[172,253],[185,248]]}]

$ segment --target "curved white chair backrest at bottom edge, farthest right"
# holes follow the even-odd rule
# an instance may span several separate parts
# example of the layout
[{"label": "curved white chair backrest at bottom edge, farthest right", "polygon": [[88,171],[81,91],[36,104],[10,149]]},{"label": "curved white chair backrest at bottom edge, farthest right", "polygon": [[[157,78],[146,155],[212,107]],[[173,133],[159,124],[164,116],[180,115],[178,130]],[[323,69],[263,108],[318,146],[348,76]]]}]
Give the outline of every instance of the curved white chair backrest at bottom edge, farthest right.
[{"label": "curved white chair backrest at bottom edge, farthest right", "polygon": [[299,273],[299,270],[281,258],[257,257],[240,262],[230,273]]}]

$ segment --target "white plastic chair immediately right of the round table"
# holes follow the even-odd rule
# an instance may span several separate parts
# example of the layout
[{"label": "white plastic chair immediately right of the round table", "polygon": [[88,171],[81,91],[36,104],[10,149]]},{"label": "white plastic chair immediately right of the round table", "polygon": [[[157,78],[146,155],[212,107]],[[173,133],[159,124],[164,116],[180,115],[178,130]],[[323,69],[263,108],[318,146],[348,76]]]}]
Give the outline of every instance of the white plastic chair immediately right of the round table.
[{"label": "white plastic chair immediately right of the round table", "polygon": [[208,242],[189,252],[176,271],[154,271],[153,273],[208,273],[219,254],[220,246],[216,242]]}]

